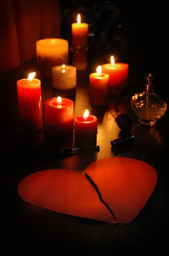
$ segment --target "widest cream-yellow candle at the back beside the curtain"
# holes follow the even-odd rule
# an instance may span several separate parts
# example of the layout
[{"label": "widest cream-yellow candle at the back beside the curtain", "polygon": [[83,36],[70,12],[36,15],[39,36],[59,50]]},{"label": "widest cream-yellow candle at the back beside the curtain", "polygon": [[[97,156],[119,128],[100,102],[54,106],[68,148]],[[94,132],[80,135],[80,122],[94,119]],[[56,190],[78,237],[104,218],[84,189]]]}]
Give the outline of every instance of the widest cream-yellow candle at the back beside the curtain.
[{"label": "widest cream-yellow candle at the back beside the curtain", "polygon": [[42,68],[43,76],[51,76],[54,66],[68,64],[68,41],[60,38],[45,38],[37,41],[37,62]]}]

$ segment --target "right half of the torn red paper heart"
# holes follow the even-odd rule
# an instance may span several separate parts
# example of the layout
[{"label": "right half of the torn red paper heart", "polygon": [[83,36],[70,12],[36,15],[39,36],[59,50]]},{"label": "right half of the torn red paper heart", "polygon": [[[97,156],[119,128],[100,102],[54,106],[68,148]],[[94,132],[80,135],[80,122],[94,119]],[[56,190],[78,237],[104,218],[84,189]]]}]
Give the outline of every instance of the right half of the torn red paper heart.
[{"label": "right half of the torn red paper heart", "polygon": [[130,223],[138,215],[157,182],[152,166],[124,157],[93,162],[85,176],[118,223]]}]

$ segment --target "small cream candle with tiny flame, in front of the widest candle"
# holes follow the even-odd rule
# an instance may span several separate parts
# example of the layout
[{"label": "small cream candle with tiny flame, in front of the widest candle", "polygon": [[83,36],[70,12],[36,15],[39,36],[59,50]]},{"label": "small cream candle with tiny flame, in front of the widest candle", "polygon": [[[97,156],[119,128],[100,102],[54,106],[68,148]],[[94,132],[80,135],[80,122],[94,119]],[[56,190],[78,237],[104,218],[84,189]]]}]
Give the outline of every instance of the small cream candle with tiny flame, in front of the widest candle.
[{"label": "small cream candle with tiny flame, in front of the widest candle", "polygon": [[65,64],[53,67],[52,85],[60,90],[69,90],[76,87],[76,67]]}]

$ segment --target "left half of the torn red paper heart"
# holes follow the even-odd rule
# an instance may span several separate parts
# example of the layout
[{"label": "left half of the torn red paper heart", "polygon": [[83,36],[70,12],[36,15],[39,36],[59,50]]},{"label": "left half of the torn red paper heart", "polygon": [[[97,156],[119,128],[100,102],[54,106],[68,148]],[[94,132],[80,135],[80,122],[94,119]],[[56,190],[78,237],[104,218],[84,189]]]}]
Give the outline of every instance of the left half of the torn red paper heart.
[{"label": "left half of the torn red paper heart", "polygon": [[25,177],[18,193],[28,203],[54,212],[115,223],[85,175],[69,169],[51,169]]}]

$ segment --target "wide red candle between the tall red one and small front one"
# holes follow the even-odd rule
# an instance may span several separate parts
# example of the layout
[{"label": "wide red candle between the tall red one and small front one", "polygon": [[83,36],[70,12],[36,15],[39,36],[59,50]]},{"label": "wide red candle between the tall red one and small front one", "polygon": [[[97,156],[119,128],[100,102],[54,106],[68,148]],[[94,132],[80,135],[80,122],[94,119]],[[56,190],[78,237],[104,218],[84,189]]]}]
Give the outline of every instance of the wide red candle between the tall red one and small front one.
[{"label": "wide red candle between the tall red one and small front one", "polygon": [[[59,127],[63,134],[73,133],[74,102],[66,98],[52,98],[44,102],[45,125]],[[58,133],[59,134],[59,133]]]}]

